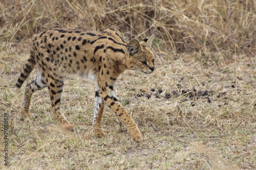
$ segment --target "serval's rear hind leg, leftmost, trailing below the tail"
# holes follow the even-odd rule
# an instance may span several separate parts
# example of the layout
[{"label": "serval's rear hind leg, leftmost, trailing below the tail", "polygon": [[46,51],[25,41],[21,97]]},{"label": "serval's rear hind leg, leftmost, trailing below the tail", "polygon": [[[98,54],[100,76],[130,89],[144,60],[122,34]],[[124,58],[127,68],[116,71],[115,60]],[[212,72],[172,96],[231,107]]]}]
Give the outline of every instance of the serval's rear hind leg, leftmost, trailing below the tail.
[{"label": "serval's rear hind leg, leftmost, trailing below the tail", "polygon": [[46,87],[46,82],[41,77],[41,73],[39,71],[35,80],[30,81],[26,85],[26,89],[25,89],[24,96],[23,96],[23,102],[22,102],[22,110],[20,111],[20,113],[22,115],[22,120],[24,120],[24,117],[30,116],[29,106],[30,106],[31,95],[36,90],[41,90],[44,87]]}]

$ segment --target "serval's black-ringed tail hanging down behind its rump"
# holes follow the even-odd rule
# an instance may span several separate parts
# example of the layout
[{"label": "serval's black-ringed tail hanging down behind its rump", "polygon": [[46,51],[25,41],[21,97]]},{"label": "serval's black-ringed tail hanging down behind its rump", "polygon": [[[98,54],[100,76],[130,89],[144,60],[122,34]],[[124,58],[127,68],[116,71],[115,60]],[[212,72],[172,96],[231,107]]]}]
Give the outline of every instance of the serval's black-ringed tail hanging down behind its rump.
[{"label": "serval's black-ringed tail hanging down behind its rump", "polygon": [[35,56],[34,56],[34,52],[31,51],[31,55],[28,59],[28,62],[25,64],[22,73],[20,74],[15,86],[20,88],[22,87],[22,84],[24,83],[24,81],[29,77],[30,72],[33,70],[35,66]]}]

